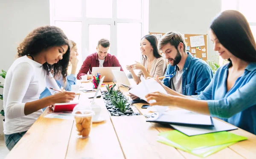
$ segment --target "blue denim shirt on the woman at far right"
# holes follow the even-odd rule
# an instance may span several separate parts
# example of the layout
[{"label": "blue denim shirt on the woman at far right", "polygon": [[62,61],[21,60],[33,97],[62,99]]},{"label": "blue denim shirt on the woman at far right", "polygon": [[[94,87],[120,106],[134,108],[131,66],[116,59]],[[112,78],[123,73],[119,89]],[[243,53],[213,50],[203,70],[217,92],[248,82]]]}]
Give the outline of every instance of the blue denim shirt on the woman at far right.
[{"label": "blue denim shirt on the woman at far right", "polygon": [[227,92],[228,68],[221,66],[198,99],[207,100],[211,116],[256,135],[256,63],[250,63]]}]

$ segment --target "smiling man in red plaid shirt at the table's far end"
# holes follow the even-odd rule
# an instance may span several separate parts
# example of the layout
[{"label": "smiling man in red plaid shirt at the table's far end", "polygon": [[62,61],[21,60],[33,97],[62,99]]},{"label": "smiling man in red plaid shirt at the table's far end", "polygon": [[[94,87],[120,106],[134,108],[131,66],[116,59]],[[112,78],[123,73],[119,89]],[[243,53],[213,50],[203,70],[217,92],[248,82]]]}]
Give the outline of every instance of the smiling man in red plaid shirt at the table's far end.
[{"label": "smiling man in red plaid shirt at the table's far end", "polygon": [[[109,46],[110,46],[109,40],[107,39],[99,40],[98,46],[96,47],[97,52],[87,56],[76,78],[80,79],[80,76],[86,75],[89,69],[90,69],[90,72],[92,72],[93,67],[121,67],[120,70],[124,71],[119,61],[117,60],[116,56],[108,53]],[[91,79],[91,77],[92,77],[91,75],[88,75],[87,79]]]}]

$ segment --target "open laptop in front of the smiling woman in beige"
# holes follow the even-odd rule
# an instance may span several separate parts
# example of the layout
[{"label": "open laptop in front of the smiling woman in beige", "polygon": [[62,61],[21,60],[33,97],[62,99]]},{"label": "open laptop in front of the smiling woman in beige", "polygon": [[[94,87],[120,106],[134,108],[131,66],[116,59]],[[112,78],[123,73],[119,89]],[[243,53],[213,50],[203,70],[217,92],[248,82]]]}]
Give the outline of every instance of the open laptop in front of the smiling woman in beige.
[{"label": "open laptop in front of the smiling woman in beige", "polygon": [[127,88],[131,89],[131,84],[130,84],[125,72],[112,70],[112,73],[115,76],[116,81],[120,87],[127,87]]}]

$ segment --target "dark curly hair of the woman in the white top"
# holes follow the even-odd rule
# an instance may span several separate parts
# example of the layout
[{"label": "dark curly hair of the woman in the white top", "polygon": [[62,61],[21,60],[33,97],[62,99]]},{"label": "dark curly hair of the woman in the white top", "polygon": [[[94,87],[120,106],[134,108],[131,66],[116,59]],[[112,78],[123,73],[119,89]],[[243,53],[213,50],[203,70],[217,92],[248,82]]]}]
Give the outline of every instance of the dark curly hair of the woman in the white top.
[{"label": "dark curly hair of the woman in the white top", "polygon": [[43,64],[43,68],[49,72],[53,71],[53,75],[59,75],[60,72],[65,81],[67,76],[67,68],[70,58],[70,45],[67,36],[64,32],[56,26],[41,26],[26,36],[18,49],[18,57],[25,55],[37,55],[39,52],[46,50],[53,46],[67,45],[67,52],[63,55],[58,63],[50,65],[47,62]]}]

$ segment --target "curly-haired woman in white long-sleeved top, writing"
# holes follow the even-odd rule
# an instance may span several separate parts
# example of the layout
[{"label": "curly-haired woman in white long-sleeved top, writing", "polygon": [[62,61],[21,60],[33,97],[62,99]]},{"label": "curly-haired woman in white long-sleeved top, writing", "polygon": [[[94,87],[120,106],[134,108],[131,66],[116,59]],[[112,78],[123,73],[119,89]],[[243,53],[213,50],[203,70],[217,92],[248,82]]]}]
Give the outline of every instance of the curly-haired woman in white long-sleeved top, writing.
[{"label": "curly-haired woman in white long-sleeved top, writing", "polygon": [[61,74],[63,80],[67,76],[70,46],[61,29],[39,27],[29,33],[17,49],[18,58],[6,74],[3,90],[3,132],[9,150],[43,113],[42,108],[72,101],[75,97],[72,92],[51,90],[54,95],[39,99],[45,87],[58,88],[49,70],[53,70],[54,76]]}]

